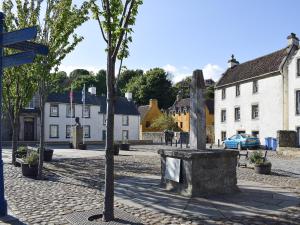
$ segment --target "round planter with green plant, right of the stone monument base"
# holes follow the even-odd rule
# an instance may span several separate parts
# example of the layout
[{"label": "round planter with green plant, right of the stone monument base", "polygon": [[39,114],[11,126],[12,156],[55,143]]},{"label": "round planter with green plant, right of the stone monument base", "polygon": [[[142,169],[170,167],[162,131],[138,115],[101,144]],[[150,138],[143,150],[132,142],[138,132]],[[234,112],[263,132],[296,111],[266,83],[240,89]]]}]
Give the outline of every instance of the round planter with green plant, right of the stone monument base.
[{"label": "round planter with green plant, right of the stone monument base", "polygon": [[254,171],[258,174],[270,174],[272,163],[267,161],[262,151],[255,151],[250,156],[250,162],[254,164]]}]

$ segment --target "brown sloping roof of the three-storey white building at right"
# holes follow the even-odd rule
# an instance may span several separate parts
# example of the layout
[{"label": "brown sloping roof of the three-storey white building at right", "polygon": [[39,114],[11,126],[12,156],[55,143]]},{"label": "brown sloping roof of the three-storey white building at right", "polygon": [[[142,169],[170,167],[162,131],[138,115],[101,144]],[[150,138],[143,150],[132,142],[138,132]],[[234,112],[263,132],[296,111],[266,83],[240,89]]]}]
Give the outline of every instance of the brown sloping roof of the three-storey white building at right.
[{"label": "brown sloping roof of the three-storey white building at right", "polygon": [[222,75],[216,87],[279,71],[280,64],[288,55],[288,52],[288,48],[283,48],[271,54],[229,68]]}]

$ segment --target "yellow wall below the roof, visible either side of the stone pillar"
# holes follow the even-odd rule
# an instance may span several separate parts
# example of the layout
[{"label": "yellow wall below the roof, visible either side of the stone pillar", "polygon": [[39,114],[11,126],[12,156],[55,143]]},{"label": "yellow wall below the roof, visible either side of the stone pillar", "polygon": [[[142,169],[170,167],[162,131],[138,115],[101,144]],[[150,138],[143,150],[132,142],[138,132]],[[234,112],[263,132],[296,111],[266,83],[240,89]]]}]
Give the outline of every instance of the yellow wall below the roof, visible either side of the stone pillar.
[{"label": "yellow wall below the roof, visible either side of the stone pillar", "polygon": [[[208,111],[207,106],[205,107],[205,115],[206,115],[206,133],[209,137],[209,139],[213,140],[213,135],[214,135],[214,114],[210,114]],[[180,115],[179,113],[172,114],[174,117],[175,121],[177,122],[177,126],[184,132],[189,132],[190,131],[190,113],[183,113],[181,112]],[[182,127],[180,122],[182,122]]]}]

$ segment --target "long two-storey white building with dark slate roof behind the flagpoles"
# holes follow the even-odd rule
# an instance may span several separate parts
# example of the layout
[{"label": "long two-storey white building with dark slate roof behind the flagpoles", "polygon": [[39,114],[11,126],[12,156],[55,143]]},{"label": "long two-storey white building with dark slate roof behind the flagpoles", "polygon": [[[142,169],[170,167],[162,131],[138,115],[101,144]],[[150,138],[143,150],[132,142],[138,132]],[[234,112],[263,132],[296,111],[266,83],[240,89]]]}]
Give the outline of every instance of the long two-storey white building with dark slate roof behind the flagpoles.
[{"label": "long two-storey white building with dark slate roof behind the flagpoles", "polygon": [[[130,96],[129,96],[130,97]],[[86,93],[83,110],[81,92],[73,93],[73,115],[69,93],[52,93],[45,105],[45,141],[48,143],[68,143],[71,125],[78,117],[84,127],[86,143],[104,141],[106,137],[106,97]],[[20,118],[20,141],[39,140],[39,113],[32,103]],[[34,113],[35,112],[35,113]],[[116,141],[139,139],[140,115],[131,98],[118,97],[115,103],[114,138]]]}]

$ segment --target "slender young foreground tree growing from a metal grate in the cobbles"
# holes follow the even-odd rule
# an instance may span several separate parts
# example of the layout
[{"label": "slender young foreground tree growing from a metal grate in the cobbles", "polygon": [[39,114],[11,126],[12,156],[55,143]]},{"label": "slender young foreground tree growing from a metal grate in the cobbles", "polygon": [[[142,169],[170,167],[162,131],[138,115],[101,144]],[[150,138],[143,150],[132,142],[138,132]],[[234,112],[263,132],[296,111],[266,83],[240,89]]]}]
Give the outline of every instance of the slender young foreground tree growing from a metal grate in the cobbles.
[{"label": "slender young foreground tree growing from a metal grate in the cobbles", "polygon": [[116,97],[115,90],[115,66],[116,61],[128,56],[128,44],[132,41],[130,34],[135,24],[138,8],[142,0],[102,0],[97,4],[92,0],[92,12],[98,21],[99,28],[106,42],[107,69],[107,135],[105,154],[105,195],[103,220],[114,219],[114,103]]}]

